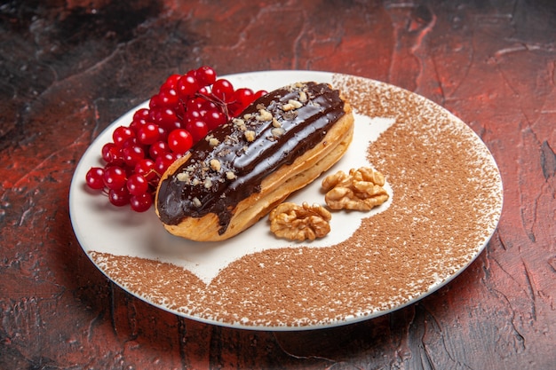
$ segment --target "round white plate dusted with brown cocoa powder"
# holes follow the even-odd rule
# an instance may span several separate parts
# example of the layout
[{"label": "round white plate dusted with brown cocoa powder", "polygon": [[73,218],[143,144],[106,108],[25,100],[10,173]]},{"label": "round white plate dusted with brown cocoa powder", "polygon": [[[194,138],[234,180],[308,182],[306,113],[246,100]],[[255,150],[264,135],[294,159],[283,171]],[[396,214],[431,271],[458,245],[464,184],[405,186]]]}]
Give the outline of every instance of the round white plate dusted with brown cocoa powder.
[{"label": "round white plate dusted with brown cocoa powder", "polygon": [[[111,141],[113,130],[129,125],[144,103],[94,140],[75,169],[69,193],[71,221],[83,250],[131,295],[226,327],[335,327],[431,294],[471,264],[496,230],[502,209],[496,162],[473,130],[441,106],[351,75],[266,71],[222,77],[235,88],[253,90],[272,91],[299,81],[342,89],[354,108],[355,135],[347,154],[323,176],[340,169],[377,168],[385,174],[390,199],[369,213],[333,213],[332,231],[314,242],[276,239],[266,218],[225,242],[176,238],[165,232],[154,209],[139,214],[115,208],[84,182],[91,166],[103,164],[100,149]],[[423,156],[435,163],[424,164],[419,160]],[[442,160],[447,156],[450,161]],[[429,184],[416,174],[436,179]],[[456,177],[465,181],[450,183]],[[320,182],[289,201],[323,204]],[[424,196],[419,184],[433,195]],[[465,196],[457,199],[454,194]],[[460,217],[465,217],[465,230],[457,223]]]}]

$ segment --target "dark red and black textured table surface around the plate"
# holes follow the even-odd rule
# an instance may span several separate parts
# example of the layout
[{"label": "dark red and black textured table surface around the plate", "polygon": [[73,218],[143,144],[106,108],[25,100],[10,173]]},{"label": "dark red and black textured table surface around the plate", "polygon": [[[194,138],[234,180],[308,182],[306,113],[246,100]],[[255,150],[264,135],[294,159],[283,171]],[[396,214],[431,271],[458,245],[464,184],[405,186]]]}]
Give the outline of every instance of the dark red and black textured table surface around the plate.
[{"label": "dark red and black textured table surface around the plate", "polygon": [[[556,5],[514,1],[0,5],[0,368],[556,368]],[[75,239],[68,187],[166,76],[309,69],[415,91],[494,155],[479,258],[409,307],[318,331],[216,327],[127,294]]]}]

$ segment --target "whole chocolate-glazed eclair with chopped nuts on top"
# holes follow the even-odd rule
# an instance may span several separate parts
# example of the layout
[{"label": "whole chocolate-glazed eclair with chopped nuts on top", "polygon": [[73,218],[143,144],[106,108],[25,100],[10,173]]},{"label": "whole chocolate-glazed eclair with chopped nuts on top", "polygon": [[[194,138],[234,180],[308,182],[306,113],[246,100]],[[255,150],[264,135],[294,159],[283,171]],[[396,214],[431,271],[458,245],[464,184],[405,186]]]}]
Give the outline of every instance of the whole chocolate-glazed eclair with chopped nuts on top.
[{"label": "whole chocolate-glazed eclair with chopped nuts on top", "polygon": [[352,138],[351,106],[328,83],[271,91],[166,170],[156,214],[174,235],[226,240],[330,169]]}]

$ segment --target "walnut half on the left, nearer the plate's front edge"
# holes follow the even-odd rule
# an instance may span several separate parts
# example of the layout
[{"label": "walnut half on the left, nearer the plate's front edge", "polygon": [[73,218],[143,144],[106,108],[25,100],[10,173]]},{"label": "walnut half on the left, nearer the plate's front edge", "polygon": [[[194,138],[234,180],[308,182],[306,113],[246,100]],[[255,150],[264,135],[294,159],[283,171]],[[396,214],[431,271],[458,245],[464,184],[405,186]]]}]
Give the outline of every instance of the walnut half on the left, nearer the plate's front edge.
[{"label": "walnut half on the left, nearer the plate's front edge", "polygon": [[303,202],[301,206],[285,202],[270,212],[270,231],[289,240],[315,240],[330,232],[332,215],[324,207]]}]

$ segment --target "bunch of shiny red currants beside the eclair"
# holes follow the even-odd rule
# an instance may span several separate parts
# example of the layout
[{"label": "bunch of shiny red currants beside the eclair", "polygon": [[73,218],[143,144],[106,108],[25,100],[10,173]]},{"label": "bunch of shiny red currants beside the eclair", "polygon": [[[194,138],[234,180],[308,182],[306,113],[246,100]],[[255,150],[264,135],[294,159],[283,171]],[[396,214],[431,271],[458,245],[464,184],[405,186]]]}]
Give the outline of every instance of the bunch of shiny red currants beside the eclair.
[{"label": "bunch of shiny red currants beside the eclair", "polygon": [[110,203],[150,209],[160,177],[210,130],[228,122],[266,91],[234,89],[211,67],[171,75],[133,114],[129,126],[117,127],[102,147],[104,167],[91,167],[87,185],[106,193]]}]

